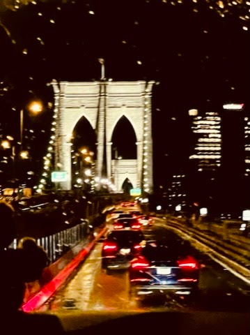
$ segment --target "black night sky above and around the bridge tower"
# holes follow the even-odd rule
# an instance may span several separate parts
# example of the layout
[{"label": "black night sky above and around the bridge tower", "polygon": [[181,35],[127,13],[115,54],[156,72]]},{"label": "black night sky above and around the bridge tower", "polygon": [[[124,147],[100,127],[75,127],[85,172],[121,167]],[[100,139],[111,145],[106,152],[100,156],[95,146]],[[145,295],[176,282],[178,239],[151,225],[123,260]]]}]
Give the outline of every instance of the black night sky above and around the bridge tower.
[{"label": "black night sky above and around the bridge tower", "polygon": [[26,117],[27,133],[32,128],[36,135],[26,135],[36,166],[52,118],[48,83],[98,80],[100,57],[107,78],[156,82],[156,184],[185,166],[192,152],[190,108],[203,114],[232,101],[249,112],[249,1],[6,0],[0,9],[2,133],[16,137],[18,110],[40,98],[42,115]]}]

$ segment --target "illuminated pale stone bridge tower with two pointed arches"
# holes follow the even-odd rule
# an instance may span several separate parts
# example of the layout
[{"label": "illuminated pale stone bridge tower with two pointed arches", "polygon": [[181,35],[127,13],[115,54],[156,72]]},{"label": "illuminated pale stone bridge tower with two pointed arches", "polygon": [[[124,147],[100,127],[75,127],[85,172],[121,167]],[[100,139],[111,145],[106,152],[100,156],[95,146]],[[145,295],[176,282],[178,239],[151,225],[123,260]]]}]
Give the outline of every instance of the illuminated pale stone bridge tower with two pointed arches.
[{"label": "illuminated pale stone bridge tower with two pointed arches", "polygon": [[[153,191],[153,142],[151,126],[151,92],[154,82],[52,82],[58,106],[55,165],[68,172],[68,181],[61,182],[65,190],[72,188],[71,138],[81,119],[86,117],[97,131],[97,161],[95,176],[108,178],[121,191],[126,178],[134,188]],[[111,138],[116,124],[125,116],[136,134],[135,160],[111,160]],[[104,136],[106,135],[106,138]],[[126,139],[124,139],[126,140]],[[107,157],[107,176],[102,175],[104,150]]]}]

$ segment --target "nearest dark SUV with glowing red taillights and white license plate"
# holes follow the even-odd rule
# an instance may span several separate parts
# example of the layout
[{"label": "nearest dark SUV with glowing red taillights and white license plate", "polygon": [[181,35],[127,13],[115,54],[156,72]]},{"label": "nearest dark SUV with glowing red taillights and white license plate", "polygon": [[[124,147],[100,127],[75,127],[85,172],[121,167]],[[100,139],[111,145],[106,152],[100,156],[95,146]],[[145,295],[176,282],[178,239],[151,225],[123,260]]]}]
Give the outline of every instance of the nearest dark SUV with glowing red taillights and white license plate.
[{"label": "nearest dark SUV with glowing red taillights and white license plate", "polygon": [[153,241],[141,248],[130,263],[130,293],[143,297],[172,291],[177,295],[198,292],[199,264],[188,241]]}]

